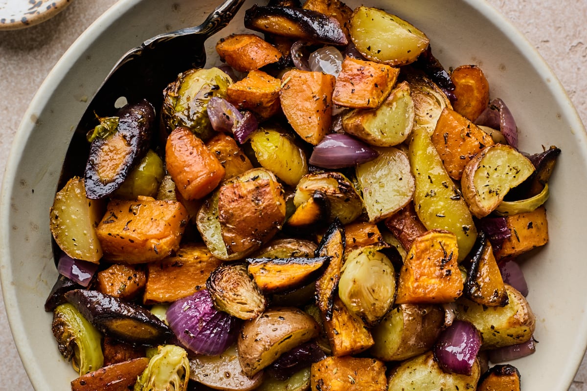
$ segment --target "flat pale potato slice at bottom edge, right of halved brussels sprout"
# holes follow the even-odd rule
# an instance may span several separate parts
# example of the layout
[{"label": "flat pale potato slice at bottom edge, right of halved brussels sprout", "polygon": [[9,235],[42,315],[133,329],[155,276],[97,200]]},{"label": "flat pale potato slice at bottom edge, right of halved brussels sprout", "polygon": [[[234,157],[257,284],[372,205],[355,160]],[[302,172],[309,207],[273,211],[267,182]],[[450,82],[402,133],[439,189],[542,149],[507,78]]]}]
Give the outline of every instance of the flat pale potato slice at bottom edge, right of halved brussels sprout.
[{"label": "flat pale potato slice at bottom edge, right of halved brussels sprout", "polygon": [[263,381],[261,371],[247,376],[238,361],[237,346],[232,345],[220,355],[197,355],[190,358],[190,379],[217,390],[249,391]]}]

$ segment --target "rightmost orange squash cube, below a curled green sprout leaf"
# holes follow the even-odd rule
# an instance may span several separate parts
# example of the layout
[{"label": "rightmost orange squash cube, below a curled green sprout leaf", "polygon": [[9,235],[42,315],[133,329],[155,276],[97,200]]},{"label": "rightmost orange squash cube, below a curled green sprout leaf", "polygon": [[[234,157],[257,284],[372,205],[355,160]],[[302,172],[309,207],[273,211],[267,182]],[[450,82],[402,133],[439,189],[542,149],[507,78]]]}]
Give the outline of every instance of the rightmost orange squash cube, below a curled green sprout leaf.
[{"label": "rightmost orange squash cube, below a curled green sprout leaf", "polygon": [[495,253],[497,260],[518,256],[548,242],[548,221],[544,206],[532,212],[508,216],[506,221],[511,236],[504,240],[501,249]]}]

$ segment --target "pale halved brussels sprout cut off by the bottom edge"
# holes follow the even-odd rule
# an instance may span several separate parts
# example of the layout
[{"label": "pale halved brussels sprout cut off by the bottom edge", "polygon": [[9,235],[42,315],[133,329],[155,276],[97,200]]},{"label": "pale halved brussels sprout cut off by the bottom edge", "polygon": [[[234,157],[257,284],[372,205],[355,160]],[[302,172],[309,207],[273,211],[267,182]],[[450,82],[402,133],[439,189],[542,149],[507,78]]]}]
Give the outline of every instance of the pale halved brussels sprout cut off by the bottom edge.
[{"label": "pale halved brussels sprout cut off by the bottom edge", "polygon": [[190,361],[185,349],[161,345],[134,384],[134,391],[185,391],[189,379]]}]

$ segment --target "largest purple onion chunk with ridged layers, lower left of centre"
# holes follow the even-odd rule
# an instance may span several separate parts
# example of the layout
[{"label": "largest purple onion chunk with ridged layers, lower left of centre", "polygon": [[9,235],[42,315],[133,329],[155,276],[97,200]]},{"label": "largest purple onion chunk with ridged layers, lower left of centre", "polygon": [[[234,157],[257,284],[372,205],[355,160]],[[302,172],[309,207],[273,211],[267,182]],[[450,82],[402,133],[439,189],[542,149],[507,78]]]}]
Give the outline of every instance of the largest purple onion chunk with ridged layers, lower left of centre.
[{"label": "largest purple onion chunk with ridged layers, lower left of centre", "polygon": [[219,355],[237,340],[238,319],[214,308],[207,290],[173,302],[166,317],[178,341],[197,354]]}]

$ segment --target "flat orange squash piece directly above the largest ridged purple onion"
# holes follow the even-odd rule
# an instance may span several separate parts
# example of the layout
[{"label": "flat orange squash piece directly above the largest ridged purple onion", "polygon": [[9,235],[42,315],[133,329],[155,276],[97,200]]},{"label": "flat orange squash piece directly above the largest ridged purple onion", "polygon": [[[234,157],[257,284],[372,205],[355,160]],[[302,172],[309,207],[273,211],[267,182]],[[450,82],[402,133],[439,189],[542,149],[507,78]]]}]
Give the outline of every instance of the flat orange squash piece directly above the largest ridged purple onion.
[{"label": "flat orange squash piece directly above the largest ridged purple onion", "polygon": [[147,267],[145,304],[173,302],[204,289],[212,270],[221,260],[204,244],[185,244],[176,254]]}]

